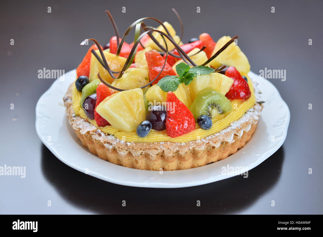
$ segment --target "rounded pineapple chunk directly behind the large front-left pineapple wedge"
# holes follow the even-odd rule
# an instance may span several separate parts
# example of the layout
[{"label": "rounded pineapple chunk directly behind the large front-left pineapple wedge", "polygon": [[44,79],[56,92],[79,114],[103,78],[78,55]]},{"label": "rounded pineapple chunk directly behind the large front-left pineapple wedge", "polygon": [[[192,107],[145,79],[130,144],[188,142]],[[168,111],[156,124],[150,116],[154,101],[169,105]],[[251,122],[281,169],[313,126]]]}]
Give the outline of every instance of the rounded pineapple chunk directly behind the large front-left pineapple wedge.
[{"label": "rounded pineapple chunk directly behind the large front-left pineapple wedge", "polygon": [[123,90],[139,88],[149,83],[148,71],[141,68],[128,68],[120,79],[115,79],[111,85]]}]

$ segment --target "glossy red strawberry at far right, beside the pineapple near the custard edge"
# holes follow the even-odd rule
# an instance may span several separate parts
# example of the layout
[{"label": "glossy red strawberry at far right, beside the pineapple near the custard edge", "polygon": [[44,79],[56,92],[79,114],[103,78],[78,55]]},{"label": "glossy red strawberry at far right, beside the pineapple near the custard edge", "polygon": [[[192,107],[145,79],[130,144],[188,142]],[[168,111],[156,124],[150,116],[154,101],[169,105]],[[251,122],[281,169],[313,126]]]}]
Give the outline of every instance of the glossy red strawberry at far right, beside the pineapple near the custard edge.
[{"label": "glossy red strawberry at far right, beside the pineapple near the custard edge", "polygon": [[251,92],[249,85],[235,67],[228,67],[225,71],[225,75],[234,80],[230,90],[225,94],[226,98],[229,100],[246,100],[250,97]]}]

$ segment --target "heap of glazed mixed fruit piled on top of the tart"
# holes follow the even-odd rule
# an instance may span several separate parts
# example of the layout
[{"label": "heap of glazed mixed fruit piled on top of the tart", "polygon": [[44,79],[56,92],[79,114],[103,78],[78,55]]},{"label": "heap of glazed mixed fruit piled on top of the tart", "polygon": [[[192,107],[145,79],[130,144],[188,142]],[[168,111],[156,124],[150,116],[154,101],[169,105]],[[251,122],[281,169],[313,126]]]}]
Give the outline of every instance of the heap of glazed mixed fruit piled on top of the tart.
[{"label": "heap of glazed mixed fruit piled on top of the tart", "polygon": [[[110,14],[108,13],[108,15]],[[140,137],[147,136],[151,129],[157,131],[166,129],[168,136],[178,137],[193,131],[195,121],[202,129],[210,129],[215,121],[214,118],[232,110],[228,99],[245,100],[250,97],[251,92],[247,78],[241,76],[235,67],[231,66],[226,69],[221,67],[223,64],[235,65],[239,62],[237,65],[240,65],[240,61],[245,62],[245,55],[237,45],[233,44],[234,40],[239,38],[237,35],[232,39],[228,36],[223,37],[218,43],[215,43],[209,34],[203,33],[199,39],[192,38],[188,44],[182,44],[182,36],[177,36],[172,26],[165,22],[164,24],[170,25],[170,27],[163,24],[161,26],[165,30],[169,28],[171,32],[166,30],[165,48],[165,44],[162,46],[162,44],[156,43],[159,41],[157,39],[162,38],[163,34],[161,33],[165,33],[161,29],[162,27],[160,26],[161,28],[157,30],[145,27],[141,21],[143,19],[146,18],[141,18],[136,24],[132,24],[121,40],[112,16],[110,16],[116,36],[113,36],[109,43],[104,45],[104,48],[96,40],[90,39],[95,45],[89,49],[77,68],[78,79],[75,85],[78,91],[82,91],[80,104],[88,118],[95,119],[98,126],[104,127],[111,124],[120,132],[136,130]],[[155,18],[150,19],[160,22]],[[135,25],[134,42],[127,44],[124,42],[125,37]],[[151,32],[141,35],[143,29],[145,33],[148,29]],[[142,45],[138,44],[139,39]],[[122,43],[119,45],[120,42]],[[151,50],[151,48],[154,49]],[[98,50],[95,51],[95,49]],[[102,49],[109,49],[109,52],[102,52]],[[134,54],[143,49],[145,50],[138,54],[138,57],[143,60],[133,63]],[[155,49],[163,52],[158,52]],[[172,55],[166,54],[167,50]],[[218,57],[224,50],[226,53]],[[98,51],[100,56],[97,54]],[[93,57],[92,65],[90,65],[91,53],[97,59],[98,64],[93,62],[95,60]],[[117,70],[112,66],[116,60],[109,61],[105,55],[123,58],[125,61],[120,61]],[[166,55],[168,55],[167,62],[165,61]],[[196,59],[193,58],[196,55],[199,56]],[[234,58],[239,60],[234,61]],[[140,64],[141,61],[144,61],[144,64]],[[212,62],[213,64],[211,64]],[[245,64],[247,65],[247,63]],[[90,66],[93,66],[92,68],[98,67],[99,73],[91,68],[91,78],[89,79]],[[100,71],[100,69],[102,70]],[[245,69],[247,71],[247,66]],[[110,80],[106,80],[104,74],[107,74]],[[99,79],[93,81],[97,77]],[[91,79],[92,82],[89,83]],[[115,93],[115,90],[119,92]],[[148,108],[148,101],[151,100],[166,101],[166,108],[164,106]]]}]

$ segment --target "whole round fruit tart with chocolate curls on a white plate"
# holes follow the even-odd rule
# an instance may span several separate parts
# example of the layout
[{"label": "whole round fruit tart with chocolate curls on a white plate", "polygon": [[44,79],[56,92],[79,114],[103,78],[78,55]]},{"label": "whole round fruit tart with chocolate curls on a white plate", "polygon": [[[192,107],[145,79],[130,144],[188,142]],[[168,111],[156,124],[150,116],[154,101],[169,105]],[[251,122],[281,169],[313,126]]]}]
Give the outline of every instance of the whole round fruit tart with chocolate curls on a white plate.
[{"label": "whole round fruit tart with chocolate curls on a white plate", "polygon": [[95,39],[81,43],[94,42],[63,98],[69,123],[91,153],[135,169],[182,170],[245,145],[263,105],[237,35],[215,42],[203,33],[183,44],[168,22],[146,17],[120,38],[106,13],[115,36],[103,47]]}]

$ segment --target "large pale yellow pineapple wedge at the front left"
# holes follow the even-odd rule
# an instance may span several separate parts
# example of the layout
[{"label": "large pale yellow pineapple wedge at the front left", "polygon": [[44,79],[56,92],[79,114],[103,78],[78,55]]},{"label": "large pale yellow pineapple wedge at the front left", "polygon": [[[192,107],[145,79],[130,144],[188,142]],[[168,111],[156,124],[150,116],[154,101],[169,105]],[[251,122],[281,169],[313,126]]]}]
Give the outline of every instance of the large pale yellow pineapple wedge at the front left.
[{"label": "large pale yellow pineapple wedge at the front left", "polygon": [[137,88],[112,94],[97,106],[96,111],[118,131],[134,131],[146,119],[143,92]]}]

